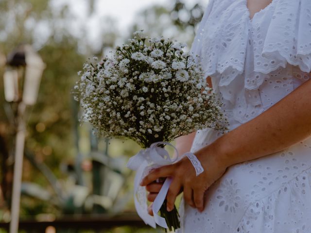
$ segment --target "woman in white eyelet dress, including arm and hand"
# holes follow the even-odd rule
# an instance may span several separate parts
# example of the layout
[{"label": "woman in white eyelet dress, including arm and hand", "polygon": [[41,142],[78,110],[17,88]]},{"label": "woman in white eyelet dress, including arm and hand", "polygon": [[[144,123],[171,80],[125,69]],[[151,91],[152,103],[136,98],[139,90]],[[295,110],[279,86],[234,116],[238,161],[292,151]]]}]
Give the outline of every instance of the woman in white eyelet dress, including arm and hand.
[{"label": "woman in white eyelet dress, including arm and hand", "polygon": [[191,51],[224,102],[229,132],[178,138],[190,161],[155,169],[153,201],[173,177],[185,233],[311,232],[311,0],[210,0]]}]

